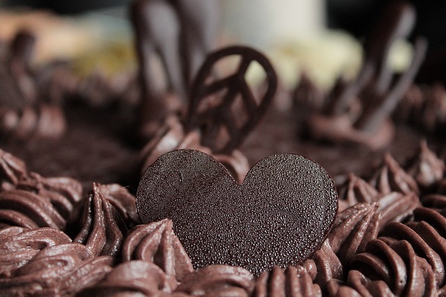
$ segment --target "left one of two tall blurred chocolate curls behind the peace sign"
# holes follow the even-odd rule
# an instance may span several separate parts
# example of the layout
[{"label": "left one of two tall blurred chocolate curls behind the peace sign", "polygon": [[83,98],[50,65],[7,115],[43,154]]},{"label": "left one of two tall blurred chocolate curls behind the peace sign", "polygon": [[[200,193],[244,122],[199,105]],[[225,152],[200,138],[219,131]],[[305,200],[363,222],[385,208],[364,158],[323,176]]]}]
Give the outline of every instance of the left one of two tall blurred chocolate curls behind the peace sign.
[{"label": "left one of two tall blurred chocolate curls behind the peace sign", "polygon": [[[153,135],[164,118],[178,112],[185,100],[185,82],[180,56],[180,23],[168,1],[137,0],[131,6],[131,19],[136,33],[136,50],[139,59],[139,77],[142,85],[141,124],[145,133]],[[167,90],[176,94],[169,102],[164,91],[155,85],[160,73],[153,62],[160,57],[167,79]]]}]

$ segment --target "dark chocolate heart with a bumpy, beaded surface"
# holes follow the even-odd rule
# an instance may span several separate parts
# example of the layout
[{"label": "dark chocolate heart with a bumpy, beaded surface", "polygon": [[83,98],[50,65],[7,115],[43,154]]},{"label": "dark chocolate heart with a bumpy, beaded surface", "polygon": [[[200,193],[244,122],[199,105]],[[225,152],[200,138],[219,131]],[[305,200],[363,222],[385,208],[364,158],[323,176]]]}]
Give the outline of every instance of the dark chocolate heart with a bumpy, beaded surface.
[{"label": "dark chocolate heart with a bumpy, beaded surface", "polygon": [[302,263],[324,241],[338,207],[332,178],[301,155],[272,155],[240,185],[201,151],[165,153],[144,172],[144,223],[169,218],[194,268],[242,266],[259,275]]}]

